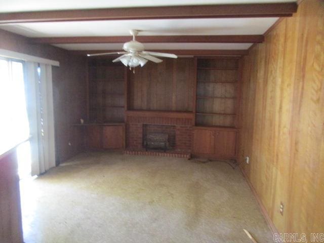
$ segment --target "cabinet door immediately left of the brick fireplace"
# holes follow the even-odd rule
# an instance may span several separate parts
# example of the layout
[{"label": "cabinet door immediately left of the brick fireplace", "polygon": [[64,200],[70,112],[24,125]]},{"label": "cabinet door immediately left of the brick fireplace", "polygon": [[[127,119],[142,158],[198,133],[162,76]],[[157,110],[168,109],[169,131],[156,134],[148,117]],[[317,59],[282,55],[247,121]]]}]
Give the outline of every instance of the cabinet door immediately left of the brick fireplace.
[{"label": "cabinet door immediately left of the brick fireplace", "polygon": [[103,148],[118,149],[124,147],[124,127],[103,127]]}]

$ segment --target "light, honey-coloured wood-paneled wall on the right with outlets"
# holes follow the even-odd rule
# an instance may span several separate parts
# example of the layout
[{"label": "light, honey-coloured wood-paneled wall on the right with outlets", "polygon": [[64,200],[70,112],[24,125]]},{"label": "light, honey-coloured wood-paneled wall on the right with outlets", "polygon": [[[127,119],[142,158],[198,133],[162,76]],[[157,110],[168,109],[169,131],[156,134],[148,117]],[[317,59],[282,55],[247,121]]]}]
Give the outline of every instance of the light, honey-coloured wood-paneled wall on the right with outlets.
[{"label": "light, honey-coloured wood-paneled wall on the right with outlets", "polygon": [[279,232],[324,232],[324,1],[304,0],[243,70],[241,168]]}]

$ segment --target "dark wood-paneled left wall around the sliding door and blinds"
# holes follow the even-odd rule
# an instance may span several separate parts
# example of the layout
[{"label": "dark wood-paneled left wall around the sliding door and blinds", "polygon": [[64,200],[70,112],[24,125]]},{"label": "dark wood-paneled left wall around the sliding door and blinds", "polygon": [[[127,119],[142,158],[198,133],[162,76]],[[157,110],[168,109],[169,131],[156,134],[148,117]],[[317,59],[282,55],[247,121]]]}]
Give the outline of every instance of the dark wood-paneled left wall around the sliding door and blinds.
[{"label": "dark wood-paneled left wall around the sliding door and blinds", "polygon": [[86,58],[50,45],[33,44],[27,37],[4,30],[0,30],[0,49],[60,62],[60,67],[52,68],[57,163],[82,151],[81,134],[71,125],[86,118]]}]

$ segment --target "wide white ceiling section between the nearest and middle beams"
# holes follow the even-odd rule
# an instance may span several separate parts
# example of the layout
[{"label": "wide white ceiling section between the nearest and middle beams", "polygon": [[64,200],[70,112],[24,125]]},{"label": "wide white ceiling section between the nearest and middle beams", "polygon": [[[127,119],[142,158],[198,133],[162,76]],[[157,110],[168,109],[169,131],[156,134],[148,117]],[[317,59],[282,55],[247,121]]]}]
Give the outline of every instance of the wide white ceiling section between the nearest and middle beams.
[{"label": "wide white ceiling section between the nearest and middle beams", "polygon": [[[154,19],[6,24],[0,28],[27,37],[130,35],[263,34],[278,18]],[[131,37],[130,37],[131,38]]]}]

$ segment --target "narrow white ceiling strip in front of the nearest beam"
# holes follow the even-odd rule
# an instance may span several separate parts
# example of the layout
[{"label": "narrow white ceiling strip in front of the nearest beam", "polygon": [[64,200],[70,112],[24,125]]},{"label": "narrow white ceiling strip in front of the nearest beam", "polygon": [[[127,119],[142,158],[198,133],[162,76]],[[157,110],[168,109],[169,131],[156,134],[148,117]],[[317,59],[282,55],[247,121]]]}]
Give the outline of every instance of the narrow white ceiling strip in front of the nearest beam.
[{"label": "narrow white ceiling strip in front of the nearest beam", "polygon": [[0,13],[70,9],[287,2],[296,2],[296,0],[0,0]]}]

